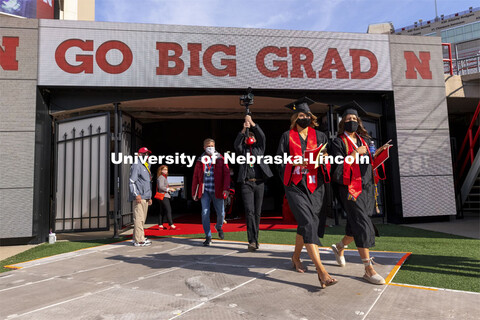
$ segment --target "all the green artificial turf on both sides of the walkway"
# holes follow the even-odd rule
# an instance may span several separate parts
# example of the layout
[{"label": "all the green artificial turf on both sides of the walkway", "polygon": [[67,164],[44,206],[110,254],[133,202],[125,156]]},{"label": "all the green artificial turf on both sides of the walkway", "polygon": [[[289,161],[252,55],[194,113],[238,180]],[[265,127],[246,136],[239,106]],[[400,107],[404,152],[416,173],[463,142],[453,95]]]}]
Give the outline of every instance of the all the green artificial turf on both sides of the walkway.
[{"label": "all the green artificial turf on both sides of the walkway", "polygon": [[[412,252],[393,282],[480,292],[480,240],[397,225],[377,227],[381,237],[377,238],[373,250]],[[338,242],[343,234],[343,227],[327,228],[321,239],[323,246]],[[184,237],[203,238],[204,235]],[[295,230],[260,231],[259,237],[261,243],[293,244]],[[246,232],[226,233],[225,239],[246,241]],[[0,261],[0,272],[10,270],[3,268],[5,265],[121,240],[42,244]],[[355,249],[355,245],[352,243],[349,249]]]}]

